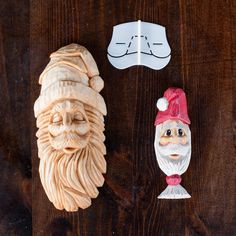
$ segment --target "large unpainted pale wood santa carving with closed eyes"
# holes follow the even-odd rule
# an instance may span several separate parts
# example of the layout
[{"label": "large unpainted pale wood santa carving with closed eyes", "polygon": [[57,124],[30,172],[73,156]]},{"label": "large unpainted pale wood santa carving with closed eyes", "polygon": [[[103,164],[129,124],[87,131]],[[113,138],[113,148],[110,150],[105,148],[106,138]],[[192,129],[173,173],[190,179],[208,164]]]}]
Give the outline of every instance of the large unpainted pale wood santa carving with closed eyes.
[{"label": "large unpainted pale wood santa carving with closed eyes", "polygon": [[103,80],[88,50],[70,44],[51,54],[39,84],[34,112],[42,185],[57,209],[87,208],[106,172]]}]

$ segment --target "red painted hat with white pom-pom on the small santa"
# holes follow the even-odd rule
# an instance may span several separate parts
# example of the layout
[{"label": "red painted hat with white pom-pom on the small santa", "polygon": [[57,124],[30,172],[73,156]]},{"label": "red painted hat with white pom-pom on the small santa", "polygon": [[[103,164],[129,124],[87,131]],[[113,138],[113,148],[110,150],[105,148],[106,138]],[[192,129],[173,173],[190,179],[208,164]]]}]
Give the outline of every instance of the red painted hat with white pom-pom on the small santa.
[{"label": "red painted hat with white pom-pom on the small santa", "polygon": [[157,108],[159,111],[155,125],[166,120],[181,120],[185,124],[190,124],[186,96],[180,88],[168,88],[164,93],[164,97],[158,99]]}]

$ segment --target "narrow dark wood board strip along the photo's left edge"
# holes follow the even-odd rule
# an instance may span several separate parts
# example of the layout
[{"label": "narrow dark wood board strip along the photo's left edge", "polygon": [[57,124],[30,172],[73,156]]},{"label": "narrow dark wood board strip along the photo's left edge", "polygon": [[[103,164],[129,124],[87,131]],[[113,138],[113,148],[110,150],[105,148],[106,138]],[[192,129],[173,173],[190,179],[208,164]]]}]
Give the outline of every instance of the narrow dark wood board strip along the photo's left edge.
[{"label": "narrow dark wood board strip along the photo's left edge", "polygon": [[0,4],[0,235],[31,235],[29,4]]}]

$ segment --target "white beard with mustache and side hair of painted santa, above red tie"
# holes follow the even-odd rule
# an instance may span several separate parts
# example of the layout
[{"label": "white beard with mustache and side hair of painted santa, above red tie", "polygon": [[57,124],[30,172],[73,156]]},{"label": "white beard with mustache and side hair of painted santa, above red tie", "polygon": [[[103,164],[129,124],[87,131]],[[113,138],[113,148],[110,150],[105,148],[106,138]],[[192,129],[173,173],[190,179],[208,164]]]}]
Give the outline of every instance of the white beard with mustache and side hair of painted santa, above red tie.
[{"label": "white beard with mustache and side hair of painted santa, above red tie", "polygon": [[[182,175],[188,168],[191,158],[191,132],[188,126],[187,130],[187,144],[167,144],[160,145],[160,134],[162,124],[156,126],[155,134],[155,153],[159,167],[167,175]],[[178,159],[171,159],[170,154],[179,154]]]}]

